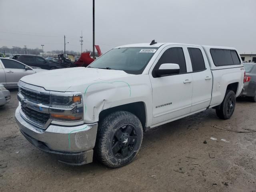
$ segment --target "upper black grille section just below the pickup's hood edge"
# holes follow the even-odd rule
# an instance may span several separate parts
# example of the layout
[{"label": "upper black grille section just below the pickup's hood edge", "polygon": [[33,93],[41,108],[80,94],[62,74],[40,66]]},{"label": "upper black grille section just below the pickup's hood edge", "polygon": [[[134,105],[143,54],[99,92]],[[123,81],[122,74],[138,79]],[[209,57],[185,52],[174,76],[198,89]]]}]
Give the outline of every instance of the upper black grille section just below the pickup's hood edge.
[{"label": "upper black grille section just below the pickup's hood edge", "polygon": [[28,100],[36,101],[37,103],[50,104],[50,96],[34,93],[25,89],[20,89],[20,93]]}]

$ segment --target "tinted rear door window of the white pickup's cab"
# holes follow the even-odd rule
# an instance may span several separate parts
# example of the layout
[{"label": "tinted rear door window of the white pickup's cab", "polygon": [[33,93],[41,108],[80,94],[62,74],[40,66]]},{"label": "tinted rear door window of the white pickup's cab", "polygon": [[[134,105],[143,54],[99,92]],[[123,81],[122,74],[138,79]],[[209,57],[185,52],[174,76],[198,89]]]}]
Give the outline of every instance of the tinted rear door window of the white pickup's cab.
[{"label": "tinted rear door window of the white pickup's cab", "polygon": [[192,70],[194,71],[202,71],[205,69],[204,57],[202,52],[198,48],[188,48]]}]

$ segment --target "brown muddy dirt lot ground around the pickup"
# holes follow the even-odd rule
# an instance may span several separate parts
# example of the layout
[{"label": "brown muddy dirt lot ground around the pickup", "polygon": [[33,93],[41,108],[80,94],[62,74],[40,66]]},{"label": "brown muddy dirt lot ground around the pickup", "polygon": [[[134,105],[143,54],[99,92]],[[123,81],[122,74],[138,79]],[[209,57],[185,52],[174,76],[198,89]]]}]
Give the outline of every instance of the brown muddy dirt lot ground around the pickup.
[{"label": "brown muddy dirt lot ground around the pickup", "polygon": [[1,192],[256,191],[256,103],[239,100],[230,120],[210,109],[154,128],[131,164],[110,169],[68,166],[36,149],[19,132],[11,94],[0,108]]}]

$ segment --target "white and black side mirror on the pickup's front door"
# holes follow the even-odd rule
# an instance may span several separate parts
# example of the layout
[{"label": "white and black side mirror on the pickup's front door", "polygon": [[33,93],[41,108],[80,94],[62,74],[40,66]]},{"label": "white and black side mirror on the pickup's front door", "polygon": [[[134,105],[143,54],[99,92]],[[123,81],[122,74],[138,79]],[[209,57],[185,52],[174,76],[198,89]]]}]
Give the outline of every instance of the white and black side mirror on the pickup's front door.
[{"label": "white and black side mirror on the pickup's front door", "polygon": [[174,63],[164,63],[160,65],[159,69],[155,70],[155,74],[158,77],[179,74],[179,73],[180,73],[180,66]]}]

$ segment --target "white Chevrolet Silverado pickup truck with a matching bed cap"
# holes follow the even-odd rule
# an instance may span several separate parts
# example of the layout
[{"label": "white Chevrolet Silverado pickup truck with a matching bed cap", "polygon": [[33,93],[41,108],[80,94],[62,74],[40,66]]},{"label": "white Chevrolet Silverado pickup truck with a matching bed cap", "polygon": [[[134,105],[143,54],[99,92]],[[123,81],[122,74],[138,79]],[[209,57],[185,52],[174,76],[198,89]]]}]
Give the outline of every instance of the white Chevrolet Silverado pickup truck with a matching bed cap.
[{"label": "white Chevrolet Silverado pickup truck with a matching bed cap", "polygon": [[116,47],[87,68],[23,77],[15,117],[59,161],[82,165],[95,154],[116,168],[134,159],[143,131],[209,108],[230,118],[243,81],[235,48],[153,40]]}]

